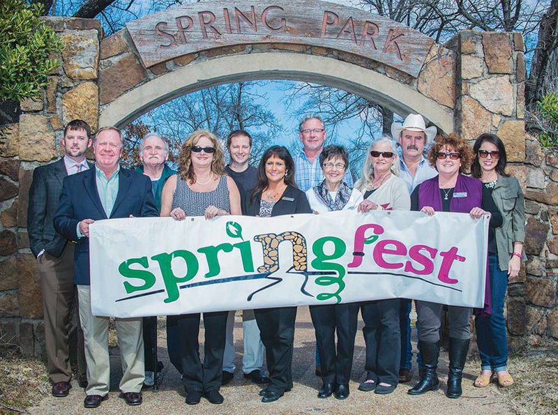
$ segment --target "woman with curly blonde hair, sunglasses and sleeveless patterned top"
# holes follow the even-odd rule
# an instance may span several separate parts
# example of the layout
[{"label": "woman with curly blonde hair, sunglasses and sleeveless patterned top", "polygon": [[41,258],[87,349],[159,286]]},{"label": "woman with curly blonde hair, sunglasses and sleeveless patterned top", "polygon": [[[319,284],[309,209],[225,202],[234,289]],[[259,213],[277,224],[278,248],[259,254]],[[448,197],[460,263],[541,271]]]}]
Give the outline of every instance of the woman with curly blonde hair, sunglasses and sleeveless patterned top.
[{"label": "woman with curly blonde hair, sunglasses and sleeveless patterned top", "polygon": [[[178,174],[170,176],[163,188],[161,216],[184,220],[187,216],[206,219],[223,215],[240,215],[240,195],[234,181],[225,175],[223,150],[217,137],[197,130],[182,144]],[[227,311],[204,312],[204,363],[199,360],[199,313],[167,317],[169,350],[181,356],[169,356],[182,374],[186,403],[195,405],[204,395],[209,402],[220,404],[223,376],[223,352]]]}]

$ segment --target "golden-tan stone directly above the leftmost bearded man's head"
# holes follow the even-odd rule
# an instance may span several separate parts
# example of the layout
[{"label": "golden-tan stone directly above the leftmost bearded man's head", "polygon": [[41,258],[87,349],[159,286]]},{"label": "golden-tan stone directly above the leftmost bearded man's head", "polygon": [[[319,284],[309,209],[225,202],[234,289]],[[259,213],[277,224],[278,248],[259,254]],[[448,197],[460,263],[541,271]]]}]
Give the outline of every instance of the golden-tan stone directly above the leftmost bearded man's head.
[{"label": "golden-tan stone directly above the leftmost bearded man's head", "polygon": [[73,119],[82,119],[91,126],[98,128],[99,89],[94,82],[82,82],[62,96],[62,120],[64,125]]}]

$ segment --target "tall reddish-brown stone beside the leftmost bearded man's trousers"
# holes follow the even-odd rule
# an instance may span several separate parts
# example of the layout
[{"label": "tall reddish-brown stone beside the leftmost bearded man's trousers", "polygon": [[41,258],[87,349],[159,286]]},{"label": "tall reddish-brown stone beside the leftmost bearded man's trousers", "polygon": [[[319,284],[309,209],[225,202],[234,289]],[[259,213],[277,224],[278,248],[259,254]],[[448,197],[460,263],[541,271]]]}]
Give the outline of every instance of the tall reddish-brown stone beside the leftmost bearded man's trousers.
[{"label": "tall reddish-brown stone beside the leftmost bearded man's trousers", "polygon": [[20,277],[20,312],[26,319],[43,318],[38,263],[31,254],[17,255],[17,273]]}]

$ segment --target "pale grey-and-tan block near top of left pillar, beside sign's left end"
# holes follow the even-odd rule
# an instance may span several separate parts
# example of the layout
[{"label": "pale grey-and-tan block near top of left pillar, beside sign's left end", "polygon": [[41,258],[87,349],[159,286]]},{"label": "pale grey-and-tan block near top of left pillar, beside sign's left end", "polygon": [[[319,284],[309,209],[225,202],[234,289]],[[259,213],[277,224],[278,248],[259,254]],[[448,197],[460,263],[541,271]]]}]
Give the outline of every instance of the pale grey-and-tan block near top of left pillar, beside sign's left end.
[{"label": "pale grey-and-tan block near top of left pillar, beside sign's left end", "polygon": [[64,72],[73,80],[95,80],[98,76],[98,31],[67,33],[62,36]]}]

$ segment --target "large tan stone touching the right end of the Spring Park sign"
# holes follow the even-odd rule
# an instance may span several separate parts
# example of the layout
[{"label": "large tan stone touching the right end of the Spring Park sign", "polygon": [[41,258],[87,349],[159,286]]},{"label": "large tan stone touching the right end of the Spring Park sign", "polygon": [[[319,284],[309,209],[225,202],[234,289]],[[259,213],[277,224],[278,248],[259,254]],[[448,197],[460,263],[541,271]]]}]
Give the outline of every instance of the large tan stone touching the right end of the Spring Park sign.
[{"label": "large tan stone touching the right end of the Spring Park sign", "polygon": [[[416,87],[420,93],[446,107],[455,107],[455,53],[439,45],[430,61],[426,61],[418,74]],[[430,56],[430,54],[429,54]],[[428,59],[428,57],[427,57]]]}]

